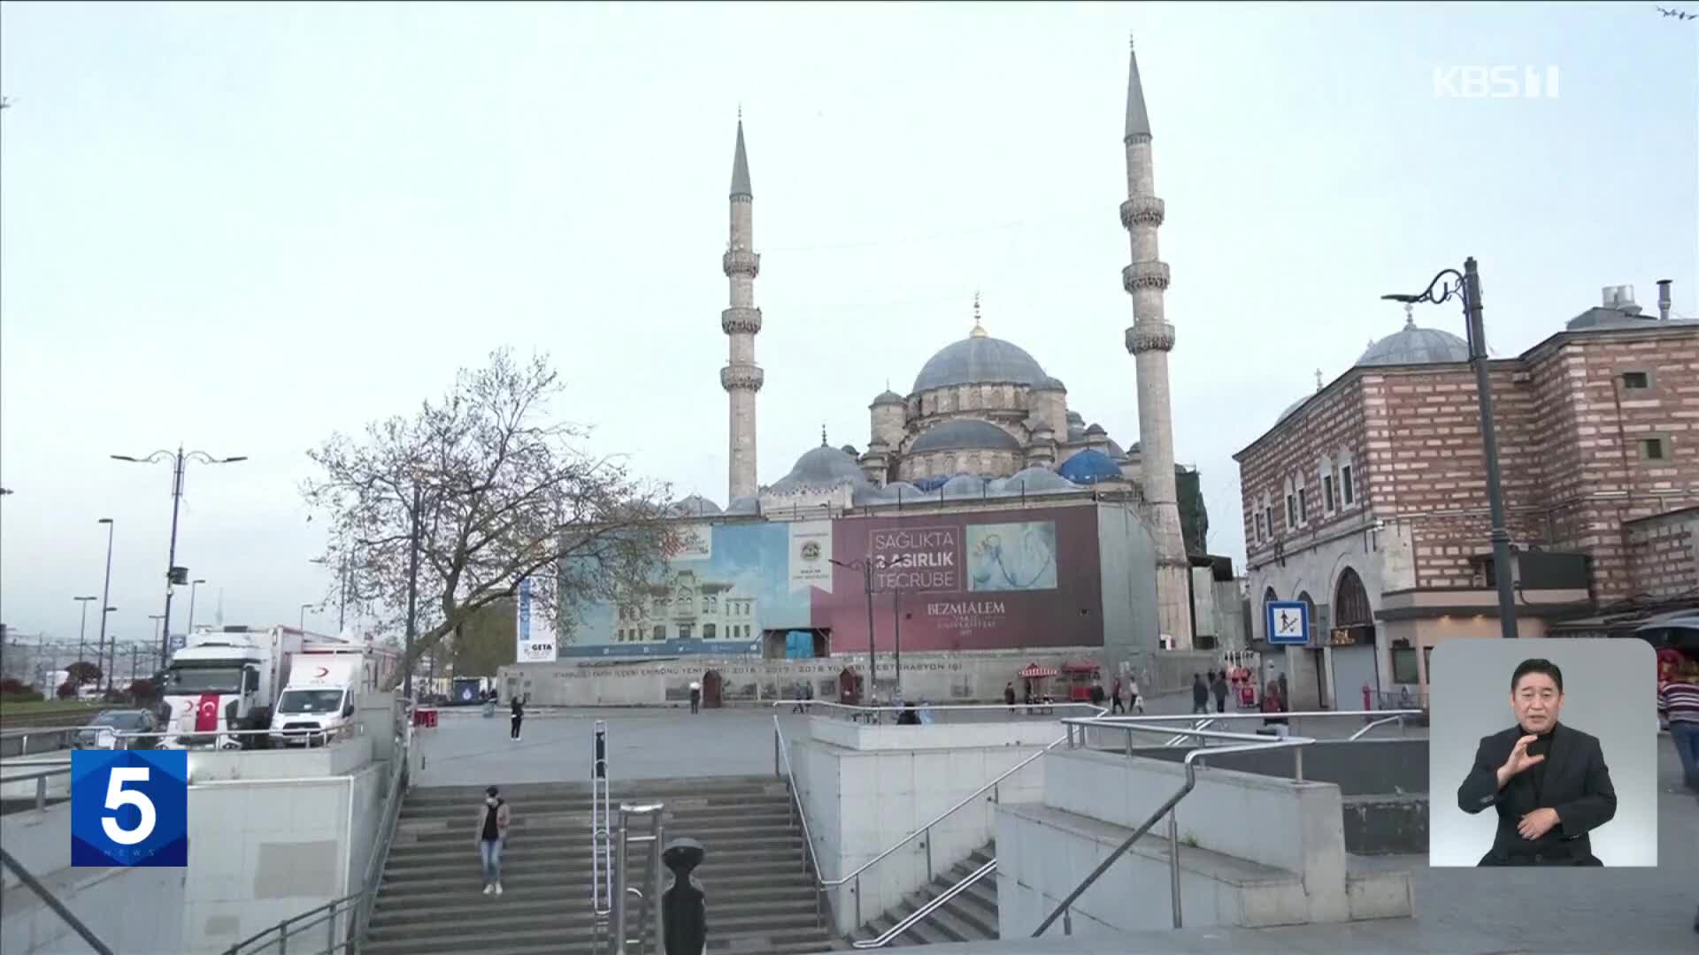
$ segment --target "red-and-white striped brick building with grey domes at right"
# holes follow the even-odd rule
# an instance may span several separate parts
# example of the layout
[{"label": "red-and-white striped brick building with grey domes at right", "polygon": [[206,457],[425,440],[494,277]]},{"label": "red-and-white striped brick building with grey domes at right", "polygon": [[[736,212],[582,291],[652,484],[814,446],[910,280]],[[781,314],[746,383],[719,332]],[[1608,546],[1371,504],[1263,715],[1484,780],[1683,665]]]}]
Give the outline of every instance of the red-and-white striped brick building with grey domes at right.
[{"label": "red-and-white striped brick building with grey domes at right", "polygon": [[[1699,321],[1629,287],[1488,362],[1517,629],[1633,596],[1699,596]],[[1240,467],[1254,646],[1293,707],[1427,687],[1427,654],[1499,634],[1468,345],[1405,328],[1288,408]],[[1308,647],[1269,647],[1262,605],[1310,605]]]}]

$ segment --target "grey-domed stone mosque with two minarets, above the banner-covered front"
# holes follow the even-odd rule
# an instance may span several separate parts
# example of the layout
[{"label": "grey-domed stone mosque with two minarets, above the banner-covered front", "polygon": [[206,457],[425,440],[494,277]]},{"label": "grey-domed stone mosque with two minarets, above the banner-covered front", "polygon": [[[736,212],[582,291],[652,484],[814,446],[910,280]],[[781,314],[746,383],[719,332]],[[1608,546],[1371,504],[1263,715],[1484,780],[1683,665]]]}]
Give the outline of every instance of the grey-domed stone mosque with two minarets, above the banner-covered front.
[{"label": "grey-domed stone mosque with two minarets, above the banner-covered front", "polygon": [[[761,309],[754,280],[761,257],[753,245],[753,185],[742,117],[732,160],[731,241],[722,268],[731,284],[731,308],[720,328],[731,340],[731,362],[720,370],[729,396],[727,513],[773,513],[809,508],[851,508],[914,500],[923,494],[984,496],[991,481],[1009,493],[1023,488],[1106,484],[1137,494],[1140,518],[1157,549],[1157,602],[1162,634],[1189,639],[1188,596],[1193,561],[1203,552],[1206,518],[1196,478],[1174,462],[1169,411],[1167,353],[1174,326],[1164,314],[1169,267],[1159,258],[1157,229],[1164,204],[1154,192],[1150,119],[1138,61],[1130,59],[1123,148],[1128,195],[1121,204],[1132,263],[1121,284],[1132,296],[1133,323],[1123,343],[1133,355],[1140,440],[1126,447],[1101,425],[1067,404],[1067,387],[1021,347],[992,338],[974,302],[974,328],[933,355],[907,394],[889,387],[873,398],[865,452],[821,447],[770,486],[756,479],[756,394],[765,372],[754,364]],[[1194,500],[1179,500],[1186,486]],[[1184,515],[1183,515],[1184,511]]]}]

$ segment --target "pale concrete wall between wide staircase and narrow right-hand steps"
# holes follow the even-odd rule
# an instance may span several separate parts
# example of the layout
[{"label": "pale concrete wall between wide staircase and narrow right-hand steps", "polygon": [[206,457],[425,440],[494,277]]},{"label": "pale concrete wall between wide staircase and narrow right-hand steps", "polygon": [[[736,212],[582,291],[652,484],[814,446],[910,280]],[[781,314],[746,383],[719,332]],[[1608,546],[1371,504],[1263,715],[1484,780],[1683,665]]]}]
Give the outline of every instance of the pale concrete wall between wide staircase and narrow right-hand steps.
[{"label": "pale concrete wall between wide staircase and narrow right-hand steps", "polygon": [[[810,729],[846,739],[841,720],[816,717]],[[883,748],[900,731],[909,749]],[[994,731],[1002,741],[985,744]],[[809,816],[816,858],[827,879],[843,877],[929,822],[968,794],[1065,736],[1057,722],[933,724],[872,727],[868,749],[821,737],[792,743],[790,761]],[[861,739],[861,737],[856,737]],[[1043,792],[1043,760],[1035,760],[997,787],[1004,804],[1035,802]],[[848,933],[902,901],[907,892],[967,858],[992,839],[994,807],[984,799],[963,805],[861,875],[860,892],[846,885],[833,896],[838,931]],[[928,873],[928,848],[931,873]],[[860,919],[856,901],[860,896]]]}]

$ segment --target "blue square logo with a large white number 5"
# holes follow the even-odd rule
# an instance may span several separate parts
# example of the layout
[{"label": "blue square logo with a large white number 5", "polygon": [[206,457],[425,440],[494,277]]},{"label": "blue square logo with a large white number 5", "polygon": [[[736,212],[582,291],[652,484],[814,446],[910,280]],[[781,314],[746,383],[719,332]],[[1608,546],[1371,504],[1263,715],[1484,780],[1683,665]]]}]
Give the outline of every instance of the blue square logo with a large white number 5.
[{"label": "blue square logo with a large white number 5", "polygon": [[71,865],[189,865],[189,753],[71,753]]}]

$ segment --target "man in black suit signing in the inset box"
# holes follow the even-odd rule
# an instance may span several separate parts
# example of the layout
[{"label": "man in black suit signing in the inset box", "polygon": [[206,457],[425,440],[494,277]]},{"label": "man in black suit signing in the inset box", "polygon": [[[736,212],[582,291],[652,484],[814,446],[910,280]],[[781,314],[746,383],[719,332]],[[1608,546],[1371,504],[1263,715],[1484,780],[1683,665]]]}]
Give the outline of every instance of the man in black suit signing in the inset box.
[{"label": "man in black suit signing in the inset box", "polygon": [[1616,788],[1599,737],[1558,722],[1563,671],[1524,659],[1510,675],[1516,726],[1482,739],[1458,787],[1468,814],[1488,805],[1499,833],[1480,865],[1604,865],[1587,833],[1616,816]]}]

